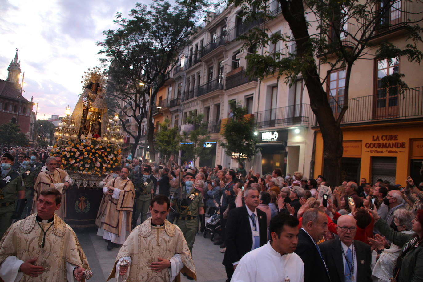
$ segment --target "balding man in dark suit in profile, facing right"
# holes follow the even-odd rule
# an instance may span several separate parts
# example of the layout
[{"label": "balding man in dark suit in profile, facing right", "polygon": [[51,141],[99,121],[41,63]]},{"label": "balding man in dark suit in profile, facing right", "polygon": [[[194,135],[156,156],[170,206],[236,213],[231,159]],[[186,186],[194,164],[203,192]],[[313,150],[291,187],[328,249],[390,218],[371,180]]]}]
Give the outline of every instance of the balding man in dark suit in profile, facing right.
[{"label": "balding man in dark suit in profile, facing right", "polygon": [[[304,282],[329,282],[329,273],[321,256],[319,242],[328,232],[327,216],[318,208],[310,208],[302,215],[295,253],[304,263]],[[318,280],[316,280],[318,278]]]}]

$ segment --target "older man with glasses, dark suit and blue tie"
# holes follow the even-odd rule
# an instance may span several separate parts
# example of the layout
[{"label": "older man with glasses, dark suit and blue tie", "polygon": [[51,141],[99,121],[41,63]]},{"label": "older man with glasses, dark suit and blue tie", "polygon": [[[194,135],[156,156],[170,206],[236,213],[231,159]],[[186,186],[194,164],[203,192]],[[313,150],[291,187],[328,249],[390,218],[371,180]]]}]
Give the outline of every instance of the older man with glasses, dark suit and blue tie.
[{"label": "older man with glasses, dark suit and blue tie", "polygon": [[371,250],[367,244],[355,240],[357,225],[354,217],[338,218],[339,239],[321,243],[320,249],[329,269],[331,282],[371,282]]}]

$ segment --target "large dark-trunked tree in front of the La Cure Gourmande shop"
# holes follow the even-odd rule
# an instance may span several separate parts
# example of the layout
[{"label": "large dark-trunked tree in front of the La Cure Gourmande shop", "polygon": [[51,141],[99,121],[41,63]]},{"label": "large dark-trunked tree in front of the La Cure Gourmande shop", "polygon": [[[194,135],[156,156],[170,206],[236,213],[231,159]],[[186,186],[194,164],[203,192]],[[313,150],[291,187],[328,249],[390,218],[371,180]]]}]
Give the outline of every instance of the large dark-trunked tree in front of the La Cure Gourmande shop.
[{"label": "large dark-trunked tree in front of the La Cure Gourmande shop", "polygon": [[[247,55],[247,74],[257,75],[261,79],[268,75],[285,77],[285,82],[291,85],[301,75],[304,79],[310,96],[310,107],[316,115],[320,125],[324,148],[324,171],[330,183],[341,181],[342,161],[342,130],[341,121],[349,107],[349,79],[351,70],[357,60],[387,59],[392,62],[395,57],[407,57],[410,62],[423,59],[418,44],[422,42],[420,33],[422,28],[416,20],[408,19],[401,23],[407,29],[407,44],[400,48],[390,42],[382,41],[374,45],[371,38],[377,33],[386,30],[389,25],[389,15],[398,11],[402,15],[419,15],[421,11],[408,13],[401,10],[398,1],[390,0],[278,0],[283,18],[288,22],[292,36],[286,33],[270,33],[266,21],[275,19],[270,14],[270,1],[265,0],[229,0],[242,6],[247,21],[260,20],[262,24],[239,37],[244,40],[244,47],[264,47],[282,41],[285,50],[275,50],[263,55]],[[405,2],[411,2],[405,0]],[[421,5],[420,5],[421,7]],[[307,14],[307,17],[306,17]],[[353,28],[350,28],[353,27]],[[317,31],[316,31],[317,30]],[[295,47],[295,48],[288,48]],[[295,45],[291,45],[295,44]],[[290,51],[293,49],[293,51]],[[370,49],[373,49],[369,52]],[[330,69],[345,68],[346,85],[344,100],[337,101],[329,97],[324,90],[328,80],[319,77],[320,64],[329,65]],[[401,80],[404,75],[392,74],[383,79],[384,86],[391,87],[399,92],[407,85]],[[332,101],[330,102],[330,99]],[[341,109],[334,115],[332,109]],[[329,173],[330,172],[330,173]]]}]

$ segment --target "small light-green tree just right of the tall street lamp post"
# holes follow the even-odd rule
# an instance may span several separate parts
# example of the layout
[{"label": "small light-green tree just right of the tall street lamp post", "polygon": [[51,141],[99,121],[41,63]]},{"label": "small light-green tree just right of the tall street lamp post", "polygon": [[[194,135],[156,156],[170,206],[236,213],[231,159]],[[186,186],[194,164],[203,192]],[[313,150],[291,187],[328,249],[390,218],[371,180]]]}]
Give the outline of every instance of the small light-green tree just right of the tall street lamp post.
[{"label": "small light-green tree just right of the tall street lamp post", "polygon": [[169,128],[170,120],[165,119],[160,123],[160,129],[156,134],[157,150],[162,155],[162,161],[166,162],[171,154],[179,152],[181,134],[178,127]]}]

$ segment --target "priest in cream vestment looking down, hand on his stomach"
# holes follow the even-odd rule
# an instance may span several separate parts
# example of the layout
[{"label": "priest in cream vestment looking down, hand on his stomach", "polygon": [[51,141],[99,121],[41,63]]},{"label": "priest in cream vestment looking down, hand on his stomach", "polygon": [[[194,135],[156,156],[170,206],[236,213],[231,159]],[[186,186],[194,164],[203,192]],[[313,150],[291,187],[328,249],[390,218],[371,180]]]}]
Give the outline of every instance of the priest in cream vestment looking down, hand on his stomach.
[{"label": "priest in cream vestment looking down, hand on his stomach", "polygon": [[169,198],[151,200],[151,217],[132,230],[116,257],[109,279],[122,281],[179,281],[180,272],[196,278],[195,266],[184,234],[166,220]]}]

